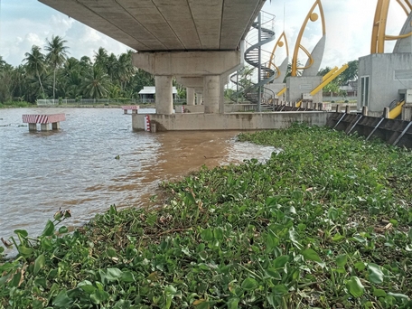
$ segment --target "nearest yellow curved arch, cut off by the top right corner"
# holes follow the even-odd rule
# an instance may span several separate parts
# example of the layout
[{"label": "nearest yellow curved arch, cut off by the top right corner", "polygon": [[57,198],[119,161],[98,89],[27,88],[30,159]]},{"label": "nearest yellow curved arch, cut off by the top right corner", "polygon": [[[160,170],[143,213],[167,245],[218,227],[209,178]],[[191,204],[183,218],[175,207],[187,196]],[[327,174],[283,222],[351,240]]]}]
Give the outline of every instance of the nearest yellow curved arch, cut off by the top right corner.
[{"label": "nearest yellow curved arch, cut off by the top right corner", "polygon": [[[404,12],[408,15],[412,11],[412,5],[407,0],[397,0]],[[387,35],[386,24],[388,20],[390,0],[378,0],[376,5],[375,18],[373,20],[372,39],[370,43],[370,53],[385,52],[385,42],[407,38],[412,35],[406,33],[403,35]]]}]

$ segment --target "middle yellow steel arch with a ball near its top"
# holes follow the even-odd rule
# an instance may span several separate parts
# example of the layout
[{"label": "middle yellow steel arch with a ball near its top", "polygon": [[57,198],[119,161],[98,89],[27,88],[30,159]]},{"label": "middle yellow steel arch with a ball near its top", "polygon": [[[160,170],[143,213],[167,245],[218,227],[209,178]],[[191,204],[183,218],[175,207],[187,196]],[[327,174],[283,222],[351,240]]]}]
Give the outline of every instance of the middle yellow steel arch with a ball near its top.
[{"label": "middle yellow steel arch with a ball near its top", "polygon": [[[296,76],[297,70],[307,69],[313,64],[312,56],[309,54],[309,52],[307,52],[306,49],[304,49],[304,47],[301,44],[301,41],[302,41],[302,37],[304,35],[304,29],[306,28],[307,22],[309,22],[309,20],[311,22],[315,22],[318,19],[318,14],[314,13],[314,9],[316,7],[319,8],[319,13],[321,14],[322,34],[324,35],[326,33],[326,26],[325,26],[325,23],[324,23],[323,6],[322,6],[322,3],[321,3],[321,0],[316,0],[314,2],[314,5],[310,9],[309,13],[306,15],[306,18],[304,19],[304,23],[302,24],[301,30],[300,30],[299,34],[297,35],[297,40],[296,40],[296,43],[295,43],[294,56],[292,58],[292,72],[291,72],[292,76]],[[309,66],[304,67],[304,68],[298,68],[297,67],[297,56],[298,56],[298,53],[299,53],[299,49],[302,49],[307,55],[309,55],[309,62],[310,62]]]}]

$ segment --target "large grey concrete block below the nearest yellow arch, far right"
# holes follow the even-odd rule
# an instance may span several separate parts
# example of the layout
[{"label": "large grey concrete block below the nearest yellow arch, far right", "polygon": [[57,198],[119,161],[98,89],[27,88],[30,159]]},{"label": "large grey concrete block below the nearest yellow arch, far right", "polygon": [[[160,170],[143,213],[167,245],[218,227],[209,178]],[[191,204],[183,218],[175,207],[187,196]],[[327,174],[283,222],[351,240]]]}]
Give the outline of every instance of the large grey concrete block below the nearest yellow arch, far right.
[{"label": "large grey concrete block below the nearest yellow arch, far right", "polygon": [[361,109],[361,77],[369,76],[369,110],[382,113],[398,98],[398,89],[412,89],[411,80],[395,80],[395,70],[411,70],[412,53],[376,53],[359,59],[358,109]]}]

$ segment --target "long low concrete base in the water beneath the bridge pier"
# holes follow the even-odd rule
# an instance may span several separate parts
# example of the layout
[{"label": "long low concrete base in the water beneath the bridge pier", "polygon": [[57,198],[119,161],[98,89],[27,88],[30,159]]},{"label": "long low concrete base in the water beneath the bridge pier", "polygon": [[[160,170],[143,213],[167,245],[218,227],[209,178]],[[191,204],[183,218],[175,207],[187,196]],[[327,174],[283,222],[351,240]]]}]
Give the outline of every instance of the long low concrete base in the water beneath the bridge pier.
[{"label": "long low concrete base in the water beneath the bridge pier", "polygon": [[[142,130],[144,115],[132,115],[134,130]],[[240,114],[173,114],[150,115],[157,131],[183,130],[258,130],[276,129],[290,126],[295,122],[324,126],[327,112],[279,112],[279,113],[240,113]]]}]

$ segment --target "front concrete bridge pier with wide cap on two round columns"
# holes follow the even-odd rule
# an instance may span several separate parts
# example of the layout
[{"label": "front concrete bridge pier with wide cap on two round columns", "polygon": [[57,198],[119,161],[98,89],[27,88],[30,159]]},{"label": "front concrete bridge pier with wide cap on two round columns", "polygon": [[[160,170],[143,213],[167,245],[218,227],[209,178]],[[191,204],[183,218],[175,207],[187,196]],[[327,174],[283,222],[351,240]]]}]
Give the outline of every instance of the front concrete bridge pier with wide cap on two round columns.
[{"label": "front concrete bridge pier with wide cap on two round columns", "polygon": [[[133,63],[155,75],[157,114],[173,113],[172,76],[181,78],[186,87],[202,88],[204,113],[219,114],[224,112],[222,80],[242,67],[242,54],[241,51],[136,52]],[[192,93],[190,96],[192,103]]]}]

